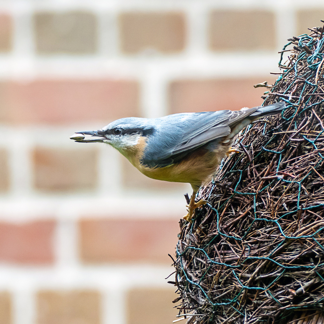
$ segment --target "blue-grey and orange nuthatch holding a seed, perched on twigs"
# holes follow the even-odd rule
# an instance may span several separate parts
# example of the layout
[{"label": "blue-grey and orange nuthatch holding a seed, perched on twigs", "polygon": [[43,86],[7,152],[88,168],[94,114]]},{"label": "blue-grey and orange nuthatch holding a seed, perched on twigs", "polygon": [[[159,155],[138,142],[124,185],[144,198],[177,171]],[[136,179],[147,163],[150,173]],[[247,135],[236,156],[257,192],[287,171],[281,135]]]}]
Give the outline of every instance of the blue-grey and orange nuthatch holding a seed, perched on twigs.
[{"label": "blue-grey and orange nuthatch holding a seed, perched on twigs", "polygon": [[[192,195],[183,218],[191,222],[194,210],[208,203],[195,202],[199,189],[208,183],[217,167],[232,152],[235,136],[265,116],[280,113],[283,101],[269,106],[177,113],[160,118],[126,117],[96,131],[75,132],[75,142],[103,142],[113,146],[135,168],[153,179],[191,184]],[[85,135],[99,137],[84,139]]]}]

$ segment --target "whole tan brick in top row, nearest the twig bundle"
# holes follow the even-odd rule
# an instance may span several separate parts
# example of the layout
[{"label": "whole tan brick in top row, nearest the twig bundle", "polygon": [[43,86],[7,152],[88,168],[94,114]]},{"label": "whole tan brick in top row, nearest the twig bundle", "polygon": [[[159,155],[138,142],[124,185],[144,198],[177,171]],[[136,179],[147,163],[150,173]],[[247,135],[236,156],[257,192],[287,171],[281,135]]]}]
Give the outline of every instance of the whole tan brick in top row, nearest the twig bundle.
[{"label": "whole tan brick in top row, nearest the twig bundle", "polygon": [[210,15],[209,46],[213,51],[274,50],[275,15],[263,10],[217,10]]}]

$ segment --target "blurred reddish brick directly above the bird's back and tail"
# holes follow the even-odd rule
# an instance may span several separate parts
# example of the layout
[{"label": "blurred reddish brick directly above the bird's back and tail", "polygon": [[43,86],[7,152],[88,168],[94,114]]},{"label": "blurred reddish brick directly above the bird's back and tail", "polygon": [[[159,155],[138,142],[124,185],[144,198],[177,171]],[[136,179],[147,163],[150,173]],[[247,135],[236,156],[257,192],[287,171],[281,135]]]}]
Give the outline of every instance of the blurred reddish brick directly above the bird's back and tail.
[{"label": "blurred reddish brick directly above the bird's back and tail", "polygon": [[169,85],[169,113],[240,110],[262,104],[264,87],[253,85],[273,77],[244,79],[179,80]]}]

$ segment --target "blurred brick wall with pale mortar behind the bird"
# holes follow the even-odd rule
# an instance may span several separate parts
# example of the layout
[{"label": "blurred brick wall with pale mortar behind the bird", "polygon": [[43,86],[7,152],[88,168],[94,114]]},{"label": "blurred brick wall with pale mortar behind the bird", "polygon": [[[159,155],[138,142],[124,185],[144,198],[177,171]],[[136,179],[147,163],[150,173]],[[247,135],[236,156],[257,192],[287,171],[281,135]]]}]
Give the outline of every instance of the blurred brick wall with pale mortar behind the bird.
[{"label": "blurred brick wall with pale mortar behind the bird", "polygon": [[260,105],[320,19],[323,0],[1,0],[0,323],[172,323],[190,186],[69,136]]}]

